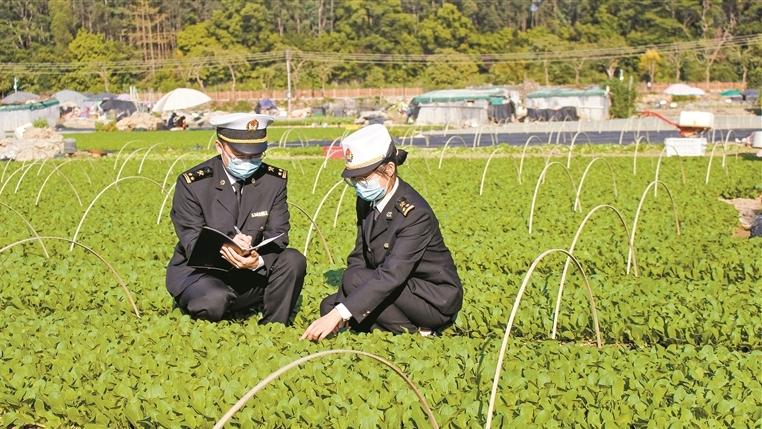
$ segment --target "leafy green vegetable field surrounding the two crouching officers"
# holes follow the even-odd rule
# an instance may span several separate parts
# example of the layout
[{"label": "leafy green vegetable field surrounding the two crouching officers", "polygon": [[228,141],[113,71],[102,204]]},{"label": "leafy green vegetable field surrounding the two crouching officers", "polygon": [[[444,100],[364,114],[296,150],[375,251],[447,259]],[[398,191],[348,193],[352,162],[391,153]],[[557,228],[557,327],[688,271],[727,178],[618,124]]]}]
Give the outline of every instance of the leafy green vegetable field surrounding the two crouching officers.
[{"label": "leafy green vegetable field surrounding the two crouching officers", "polygon": [[294,366],[227,426],[762,425],[760,242],[720,201],[759,195],[762,161],[413,151],[400,173],[455,258],[457,323],[316,345],[299,335],[354,244],[341,162],[267,160],[309,262],[294,326],[211,324],[164,288],[174,181],[208,153],[148,147],[0,163],[0,426],[211,427],[328,350],[367,354]]}]

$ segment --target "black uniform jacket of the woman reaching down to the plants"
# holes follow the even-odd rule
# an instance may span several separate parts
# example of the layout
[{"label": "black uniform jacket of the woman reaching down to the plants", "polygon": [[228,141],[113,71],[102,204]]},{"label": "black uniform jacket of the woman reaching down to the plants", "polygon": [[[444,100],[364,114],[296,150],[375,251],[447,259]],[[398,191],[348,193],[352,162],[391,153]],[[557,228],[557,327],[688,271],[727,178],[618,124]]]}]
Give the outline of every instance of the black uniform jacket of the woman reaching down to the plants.
[{"label": "black uniform jacket of the woman reaching down to the plants", "polygon": [[375,222],[377,210],[357,198],[357,241],[343,281],[351,283],[360,269],[375,272],[340,301],[358,322],[406,286],[444,315],[454,315],[463,303],[460,278],[434,212],[415,189],[398,180]]}]

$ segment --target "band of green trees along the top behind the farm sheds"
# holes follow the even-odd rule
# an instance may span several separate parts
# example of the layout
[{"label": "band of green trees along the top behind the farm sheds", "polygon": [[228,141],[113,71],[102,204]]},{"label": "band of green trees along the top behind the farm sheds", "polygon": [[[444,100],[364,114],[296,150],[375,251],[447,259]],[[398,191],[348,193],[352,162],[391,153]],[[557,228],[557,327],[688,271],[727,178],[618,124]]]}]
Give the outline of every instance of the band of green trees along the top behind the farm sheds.
[{"label": "band of green trees along the top behind the farm sheds", "polygon": [[[543,53],[625,49],[721,34],[762,33],[755,0],[10,0],[0,10],[0,92],[124,91],[130,85],[283,89],[285,58],[249,63],[245,55],[285,51],[444,54]],[[146,24],[146,22],[150,23]],[[150,29],[149,29],[150,26]],[[657,49],[658,50],[658,49]],[[654,79],[762,84],[762,43],[662,53]],[[297,55],[298,57],[298,55]],[[139,62],[119,67],[120,61]],[[183,60],[157,66],[155,61]],[[35,69],[33,63],[48,66]],[[73,64],[61,69],[55,64]],[[54,64],[54,65],[50,65]],[[110,64],[110,66],[109,66]],[[635,58],[454,65],[296,60],[296,88],[443,86],[483,83],[600,84],[622,69],[646,73]]]}]

